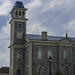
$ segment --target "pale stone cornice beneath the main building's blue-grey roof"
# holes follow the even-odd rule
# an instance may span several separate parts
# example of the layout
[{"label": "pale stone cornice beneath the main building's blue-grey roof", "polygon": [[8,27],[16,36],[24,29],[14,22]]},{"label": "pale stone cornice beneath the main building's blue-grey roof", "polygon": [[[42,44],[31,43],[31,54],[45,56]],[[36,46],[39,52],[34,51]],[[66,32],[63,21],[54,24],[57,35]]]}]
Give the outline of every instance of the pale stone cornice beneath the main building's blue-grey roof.
[{"label": "pale stone cornice beneath the main building's blue-grey roof", "polygon": [[42,41],[42,40],[28,40],[28,43],[34,42],[37,45],[59,45],[59,46],[75,46],[74,42],[59,42],[59,41]]}]

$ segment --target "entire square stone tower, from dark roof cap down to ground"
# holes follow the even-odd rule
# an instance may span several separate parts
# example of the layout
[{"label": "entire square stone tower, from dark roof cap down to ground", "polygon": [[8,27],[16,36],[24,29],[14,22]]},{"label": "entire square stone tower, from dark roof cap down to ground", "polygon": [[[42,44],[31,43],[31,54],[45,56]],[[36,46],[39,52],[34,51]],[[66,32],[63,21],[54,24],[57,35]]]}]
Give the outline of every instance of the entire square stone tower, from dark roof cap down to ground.
[{"label": "entire square stone tower, from dark roof cap down to ground", "polygon": [[26,8],[23,3],[16,1],[11,10],[10,30],[10,75],[24,75],[26,35]]}]

